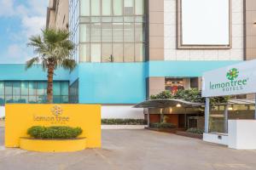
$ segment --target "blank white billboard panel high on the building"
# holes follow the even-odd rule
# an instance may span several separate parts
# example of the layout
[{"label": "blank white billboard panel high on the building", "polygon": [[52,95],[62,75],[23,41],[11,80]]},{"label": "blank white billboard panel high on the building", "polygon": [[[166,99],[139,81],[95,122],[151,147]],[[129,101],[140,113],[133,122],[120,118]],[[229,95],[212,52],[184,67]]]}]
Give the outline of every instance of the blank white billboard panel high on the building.
[{"label": "blank white billboard panel high on the building", "polygon": [[183,45],[229,45],[230,0],[181,0]]}]

